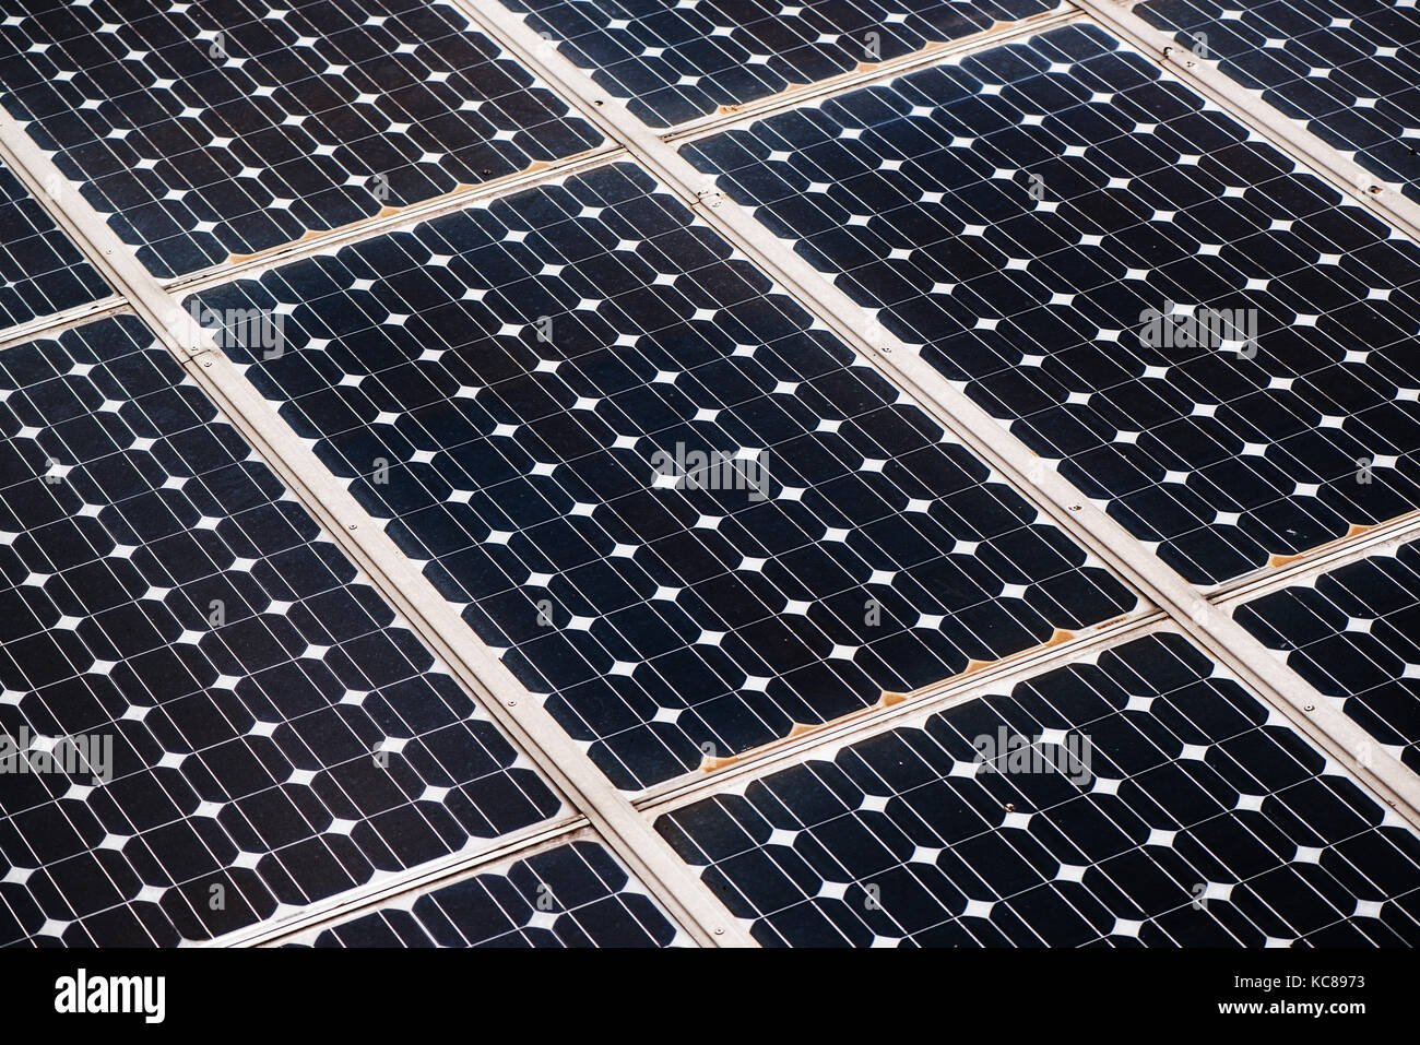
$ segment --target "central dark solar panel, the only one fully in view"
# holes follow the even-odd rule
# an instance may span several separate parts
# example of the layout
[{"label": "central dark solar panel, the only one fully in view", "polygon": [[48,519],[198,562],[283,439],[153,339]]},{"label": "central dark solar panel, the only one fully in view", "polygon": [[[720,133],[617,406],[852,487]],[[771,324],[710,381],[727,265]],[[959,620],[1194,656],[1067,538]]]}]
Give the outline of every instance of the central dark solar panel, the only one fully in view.
[{"label": "central dark solar panel, the only one fully in view", "polygon": [[619,787],[1135,605],[630,165],[203,302],[283,317],[231,358]]}]

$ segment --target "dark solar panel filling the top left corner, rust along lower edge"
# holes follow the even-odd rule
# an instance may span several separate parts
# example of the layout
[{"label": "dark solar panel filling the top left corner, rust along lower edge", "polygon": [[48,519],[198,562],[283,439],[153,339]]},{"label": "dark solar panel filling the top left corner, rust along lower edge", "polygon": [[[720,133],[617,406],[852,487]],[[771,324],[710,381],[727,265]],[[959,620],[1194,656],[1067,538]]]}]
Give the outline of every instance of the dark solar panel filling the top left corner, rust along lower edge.
[{"label": "dark solar panel filling the top left corner, rust along lower edge", "polygon": [[0,104],[153,274],[223,263],[602,139],[420,0],[16,0]]}]

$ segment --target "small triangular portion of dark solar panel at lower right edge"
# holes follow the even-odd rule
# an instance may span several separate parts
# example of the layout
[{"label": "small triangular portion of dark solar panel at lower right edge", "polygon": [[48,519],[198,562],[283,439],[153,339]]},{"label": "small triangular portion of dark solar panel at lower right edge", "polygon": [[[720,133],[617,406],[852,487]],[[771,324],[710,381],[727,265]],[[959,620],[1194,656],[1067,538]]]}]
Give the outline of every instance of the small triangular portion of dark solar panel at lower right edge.
[{"label": "small triangular portion of dark solar panel at lower right edge", "polygon": [[1264,595],[1234,616],[1420,772],[1420,547]]}]

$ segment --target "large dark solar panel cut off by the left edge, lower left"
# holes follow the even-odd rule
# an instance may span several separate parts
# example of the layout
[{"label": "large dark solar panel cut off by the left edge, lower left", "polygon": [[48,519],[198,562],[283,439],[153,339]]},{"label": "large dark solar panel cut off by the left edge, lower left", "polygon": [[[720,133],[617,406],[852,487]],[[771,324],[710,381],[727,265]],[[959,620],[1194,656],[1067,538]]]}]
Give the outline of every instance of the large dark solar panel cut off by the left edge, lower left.
[{"label": "large dark solar panel cut off by the left edge, lower left", "polygon": [[138,319],[0,352],[0,943],[210,939],[559,809]]}]

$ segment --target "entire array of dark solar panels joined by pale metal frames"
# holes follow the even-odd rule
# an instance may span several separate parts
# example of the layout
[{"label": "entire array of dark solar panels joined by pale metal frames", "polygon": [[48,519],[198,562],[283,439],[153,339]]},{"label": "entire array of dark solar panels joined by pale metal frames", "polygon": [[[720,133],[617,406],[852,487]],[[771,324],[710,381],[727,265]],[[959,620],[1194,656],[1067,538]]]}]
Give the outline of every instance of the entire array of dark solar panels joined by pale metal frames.
[{"label": "entire array of dark solar panels joined by pale metal frames", "polygon": [[[0,943],[1420,943],[1365,186],[1048,0],[504,7],[0,4]],[[1411,192],[1411,9],[1136,10]]]}]

